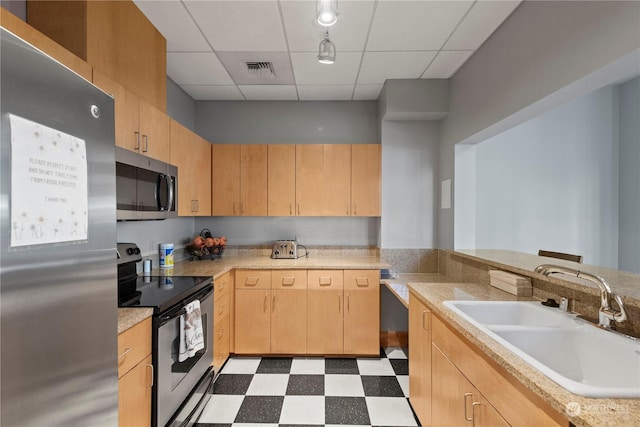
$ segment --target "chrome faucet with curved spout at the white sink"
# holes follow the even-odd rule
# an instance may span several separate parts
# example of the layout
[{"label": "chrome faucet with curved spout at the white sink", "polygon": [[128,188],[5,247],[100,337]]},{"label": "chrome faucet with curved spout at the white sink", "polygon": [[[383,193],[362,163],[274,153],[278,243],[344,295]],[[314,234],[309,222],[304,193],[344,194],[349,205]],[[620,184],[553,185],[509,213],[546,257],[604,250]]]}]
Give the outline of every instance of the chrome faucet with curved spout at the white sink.
[{"label": "chrome faucet with curved spout at the white sink", "polygon": [[[600,288],[600,310],[598,311],[598,326],[604,329],[612,329],[614,325],[611,325],[613,320],[616,323],[627,320],[627,313],[624,311],[624,304],[620,295],[613,295],[609,284],[600,276],[595,274],[584,273],[572,268],[561,267],[559,265],[542,264],[536,267],[536,273],[543,276],[549,276],[550,274],[566,274],[569,276],[578,277],[580,279],[586,279],[595,283]],[[611,308],[611,297],[613,297],[618,303],[619,311]]]}]

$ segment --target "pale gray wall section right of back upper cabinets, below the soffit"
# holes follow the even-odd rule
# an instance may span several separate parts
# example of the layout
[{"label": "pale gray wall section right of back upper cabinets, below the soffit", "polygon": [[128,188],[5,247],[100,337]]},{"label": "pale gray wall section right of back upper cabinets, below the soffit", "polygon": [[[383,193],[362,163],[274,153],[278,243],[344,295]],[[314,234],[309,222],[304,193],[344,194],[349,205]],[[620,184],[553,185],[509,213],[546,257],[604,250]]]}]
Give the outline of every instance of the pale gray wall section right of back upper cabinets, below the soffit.
[{"label": "pale gray wall section right of back upper cabinets, below the soffit", "polygon": [[380,247],[437,248],[439,124],[382,122]]}]

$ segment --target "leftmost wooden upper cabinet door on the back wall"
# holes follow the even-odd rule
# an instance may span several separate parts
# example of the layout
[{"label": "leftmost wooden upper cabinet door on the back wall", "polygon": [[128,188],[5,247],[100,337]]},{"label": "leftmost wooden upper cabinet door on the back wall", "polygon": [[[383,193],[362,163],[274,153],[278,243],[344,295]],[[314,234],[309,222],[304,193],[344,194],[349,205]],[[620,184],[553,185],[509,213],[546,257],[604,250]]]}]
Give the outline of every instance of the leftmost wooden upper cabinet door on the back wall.
[{"label": "leftmost wooden upper cabinet door on the back wall", "polygon": [[240,145],[211,146],[211,215],[240,215]]}]

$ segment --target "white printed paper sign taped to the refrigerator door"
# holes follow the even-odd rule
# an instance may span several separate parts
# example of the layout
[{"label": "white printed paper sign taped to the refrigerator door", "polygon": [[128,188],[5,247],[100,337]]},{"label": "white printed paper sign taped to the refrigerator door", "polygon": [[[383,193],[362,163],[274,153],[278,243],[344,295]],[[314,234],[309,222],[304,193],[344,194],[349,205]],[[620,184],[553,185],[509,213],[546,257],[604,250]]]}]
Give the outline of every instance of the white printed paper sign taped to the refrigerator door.
[{"label": "white printed paper sign taped to the refrigerator door", "polygon": [[87,240],[85,141],[11,114],[11,246]]}]

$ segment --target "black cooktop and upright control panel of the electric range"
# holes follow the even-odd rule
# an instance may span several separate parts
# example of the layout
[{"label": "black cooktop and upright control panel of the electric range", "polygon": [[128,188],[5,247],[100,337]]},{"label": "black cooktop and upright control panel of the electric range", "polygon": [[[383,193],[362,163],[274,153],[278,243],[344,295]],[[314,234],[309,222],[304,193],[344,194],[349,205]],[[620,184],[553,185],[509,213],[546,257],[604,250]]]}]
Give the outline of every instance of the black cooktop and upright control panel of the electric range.
[{"label": "black cooktop and upright control panel of the electric range", "polygon": [[211,276],[139,276],[141,260],[135,243],[118,243],[118,307],[149,307],[159,314],[211,286]]}]

